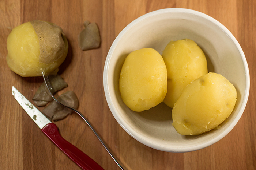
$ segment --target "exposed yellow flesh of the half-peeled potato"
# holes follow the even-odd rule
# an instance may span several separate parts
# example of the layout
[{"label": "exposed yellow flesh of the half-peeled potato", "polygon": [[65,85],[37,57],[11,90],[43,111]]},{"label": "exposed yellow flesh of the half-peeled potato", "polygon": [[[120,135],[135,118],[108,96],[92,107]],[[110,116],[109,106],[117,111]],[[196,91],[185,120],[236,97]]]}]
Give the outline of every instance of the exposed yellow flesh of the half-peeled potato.
[{"label": "exposed yellow flesh of the half-peeled potato", "polygon": [[7,64],[12,71],[23,77],[42,76],[42,71],[47,75],[56,70],[65,60],[68,53],[68,42],[65,43],[64,54],[56,62],[50,64],[40,63],[40,47],[38,36],[30,22],[12,29],[7,38]]}]

